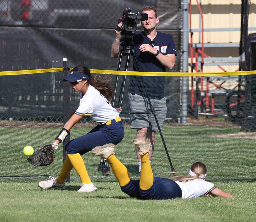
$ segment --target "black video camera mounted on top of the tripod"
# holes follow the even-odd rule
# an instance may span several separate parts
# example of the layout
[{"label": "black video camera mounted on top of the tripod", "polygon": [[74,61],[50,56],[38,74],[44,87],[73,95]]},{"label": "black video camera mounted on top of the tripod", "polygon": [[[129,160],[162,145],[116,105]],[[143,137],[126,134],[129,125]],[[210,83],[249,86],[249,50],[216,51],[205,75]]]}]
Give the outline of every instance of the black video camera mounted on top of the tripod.
[{"label": "black video camera mounted on top of the tripod", "polygon": [[122,22],[121,28],[116,26],[116,30],[122,30],[121,41],[123,41],[124,46],[132,45],[132,37],[137,29],[137,24],[135,20],[146,21],[148,20],[148,14],[144,12],[132,13],[131,8],[127,7],[123,11],[122,17],[118,20],[118,24]]}]

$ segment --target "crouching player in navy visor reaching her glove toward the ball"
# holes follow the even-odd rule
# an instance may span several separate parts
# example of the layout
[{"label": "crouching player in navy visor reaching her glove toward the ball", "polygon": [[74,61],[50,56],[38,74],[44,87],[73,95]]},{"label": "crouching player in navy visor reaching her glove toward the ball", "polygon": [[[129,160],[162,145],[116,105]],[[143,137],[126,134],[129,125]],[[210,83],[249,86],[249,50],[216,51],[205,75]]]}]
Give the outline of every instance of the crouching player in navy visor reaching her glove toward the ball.
[{"label": "crouching player in navy visor reaching her glove toward the ball", "polygon": [[59,135],[52,143],[56,149],[63,142],[70,129],[83,117],[91,119],[97,126],[84,136],[72,139],[65,147],[67,157],[63,163],[59,177],[49,177],[50,180],[39,182],[42,189],[65,187],[65,180],[74,167],[82,185],[78,192],[96,191],[97,187],[91,182],[84,166],[81,155],[92,150],[93,147],[106,143],[118,144],[124,137],[124,126],[119,113],[111,106],[112,88],[106,79],[94,78],[90,70],[84,66],[76,66],[63,81],[69,81],[74,91],[80,92],[80,103],[76,112],[64,125]]}]

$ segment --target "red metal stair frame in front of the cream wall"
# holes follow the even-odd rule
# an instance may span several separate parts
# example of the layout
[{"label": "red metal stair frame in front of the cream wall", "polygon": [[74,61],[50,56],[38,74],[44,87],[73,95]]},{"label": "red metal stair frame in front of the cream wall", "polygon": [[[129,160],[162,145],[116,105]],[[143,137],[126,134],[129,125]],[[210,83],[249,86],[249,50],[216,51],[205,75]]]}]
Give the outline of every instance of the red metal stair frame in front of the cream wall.
[{"label": "red metal stair frame in front of the cream wall", "polygon": [[[190,58],[191,58],[191,72],[203,72],[203,66],[206,59],[211,61],[210,57],[204,52],[204,17],[201,5],[198,3],[198,0],[196,0],[197,8],[200,13],[200,34],[202,34],[201,39],[202,43],[200,43],[201,39],[199,37],[199,44],[193,44],[193,31],[191,28],[191,14],[192,14],[192,6],[191,6],[191,0],[189,1],[189,28],[190,28]],[[207,44],[206,44],[207,45]],[[195,63],[193,63],[194,60],[194,52],[195,52]],[[204,59],[206,58],[206,59]],[[212,58],[213,59],[213,58]],[[208,61],[207,60],[207,61]],[[214,61],[211,61],[212,63],[215,63]],[[198,64],[200,63],[200,64]],[[209,64],[209,63],[207,63]],[[217,65],[222,71],[227,72],[224,68],[222,68],[220,65]],[[237,69],[236,71],[238,71]],[[223,76],[223,77],[199,77],[197,75],[196,77],[191,77],[191,105],[188,105],[188,114],[190,114],[194,118],[198,118],[198,114],[200,115],[211,115],[211,116],[229,116],[234,115],[231,114],[231,111],[238,112],[241,111],[241,107],[236,107],[237,104],[240,106],[241,103],[244,102],[244,91],[241,91],[241,88],[238,87],[243,86],[243,83],[241,83],[235,76]],[[206,83],[204,83],[206,81]],[[214,82],[215,81],[215,82]],[[216,81],[221,81],[221,83],[216,83]],[[234,82],[237,82],[234,86],[232,86],[232,89],[227,89],[224,87],[224,83],[227,83],[228,81],[232,81],[232,84]],[[196,82],[196,86],[194,86]],[[205,89],[204,89],[204,84]],[[210,85],[214,86],[214,89],[210,89]],[[240,89],[239,92],[237,91],[237,88]],[[230,96],[229,96],[230,94]],[[225,100],[222,102],[222,104],[216,104],[215,101],[215,95],[222,97],[222,100]],[[232,97],[233,96],[233,97]],[[219,98],[220,98],[219,97]],[[223,99],[225,97],[225,99]],[[227,100],[228,99],[228,100]],[[238,102],[239,101],[239,102]],[[218,105],[219,108],[216,108],[216,105]],[[221,107],[221,108],[220,108]],[[237,108],[237,110],[236,110]],[[230,111],[231,110],[231,111]],[[227,114],[225,114],[227,112]]]}]

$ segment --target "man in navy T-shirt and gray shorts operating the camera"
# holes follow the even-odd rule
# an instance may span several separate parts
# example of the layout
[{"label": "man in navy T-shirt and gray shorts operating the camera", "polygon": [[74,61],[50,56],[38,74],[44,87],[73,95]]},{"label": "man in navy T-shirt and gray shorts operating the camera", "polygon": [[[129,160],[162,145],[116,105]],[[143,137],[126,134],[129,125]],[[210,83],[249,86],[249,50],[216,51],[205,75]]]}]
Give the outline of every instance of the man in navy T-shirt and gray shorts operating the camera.
[{"label": "man in navy T-shirt and gray shorts operating the camera", "polygon": [[[172,69],[175,64],[176,49],[173,37],[169,34],[156,31],[156,24],[159,22],[157,11],[154,6],[143,7],[140,12],[148,14],[148,20],[140,21],[144,31],[133,35],[133,45],[135,57],[138,61],[140,71],[142,72],[165,72],[165,67]],[[122,22],[118,24],[122,27]],[[116,30],[116,38],[111,47],[111,57],[120,56],[123,49],[123,43],[120,44],[122,30]],[[139,71],[133,59],[133,70]],[[143,82],[144,85],[143,85]],[[145,89],[146,88],[146,89]],[[166,117],[167,107],[164,97],[164,77],[163,76],[130,76],[130,86],[128,90],[131,112],[150,112],[147,94],[155,110],[160,128],[162,128]],[[153,114],[133,114],[131,116],[131,128],[137,130],[135,139],[144,139],[152,145],[149,154],[151,160],[155,134],[158,131],[156,120]],[[138,155],[138,149],[135,147],[139,171],[141,168],[141,159]]]}]

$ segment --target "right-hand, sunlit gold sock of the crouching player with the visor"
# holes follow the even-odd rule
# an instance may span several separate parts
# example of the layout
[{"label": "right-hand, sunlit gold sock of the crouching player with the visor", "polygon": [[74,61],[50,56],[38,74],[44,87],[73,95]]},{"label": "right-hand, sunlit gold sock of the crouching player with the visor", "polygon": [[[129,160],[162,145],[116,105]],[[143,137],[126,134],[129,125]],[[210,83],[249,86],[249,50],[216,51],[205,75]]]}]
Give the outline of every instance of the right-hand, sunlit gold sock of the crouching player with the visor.
[{"label": "right-hand, sunlit gold sock of the crouching player with the visor", "polygon": [[82,156],[77,154],[67,154],[68,159],[70,160],[71,164],[75,168],[78,176],[80,177],[83,184],[91,184],[91,180],[89,178],[89,175],[87,173],[87,170],[84,166],[84,160]]}]

